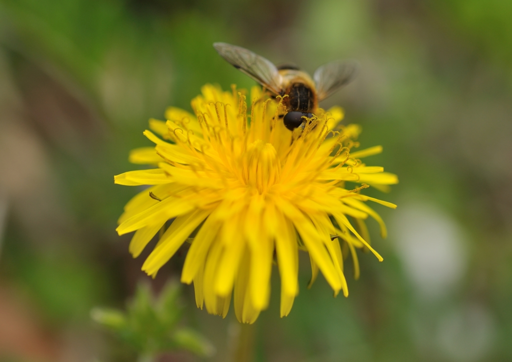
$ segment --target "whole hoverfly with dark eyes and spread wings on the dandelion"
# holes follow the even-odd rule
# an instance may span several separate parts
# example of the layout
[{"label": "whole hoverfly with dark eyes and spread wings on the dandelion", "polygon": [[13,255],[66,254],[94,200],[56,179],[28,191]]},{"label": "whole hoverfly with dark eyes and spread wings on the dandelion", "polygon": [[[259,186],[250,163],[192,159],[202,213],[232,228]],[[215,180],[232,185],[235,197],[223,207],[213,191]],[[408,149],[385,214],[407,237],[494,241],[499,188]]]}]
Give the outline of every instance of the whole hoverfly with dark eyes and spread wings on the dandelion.
[{"label": "whole hoverfly with dark eyes and spread wings on the dandelion", "polygon": [[260,83],[273,97],[281,96],[285,114],[284,125],[290,131],[304,128],[305,118],[314,117],[318,102],[348,84],[357,73],[354,61],[333,61],[319,67],[313,74],[294,66],[276,67],[264,57],[225,42],[214,43],[217,52],[231,65]]}]

